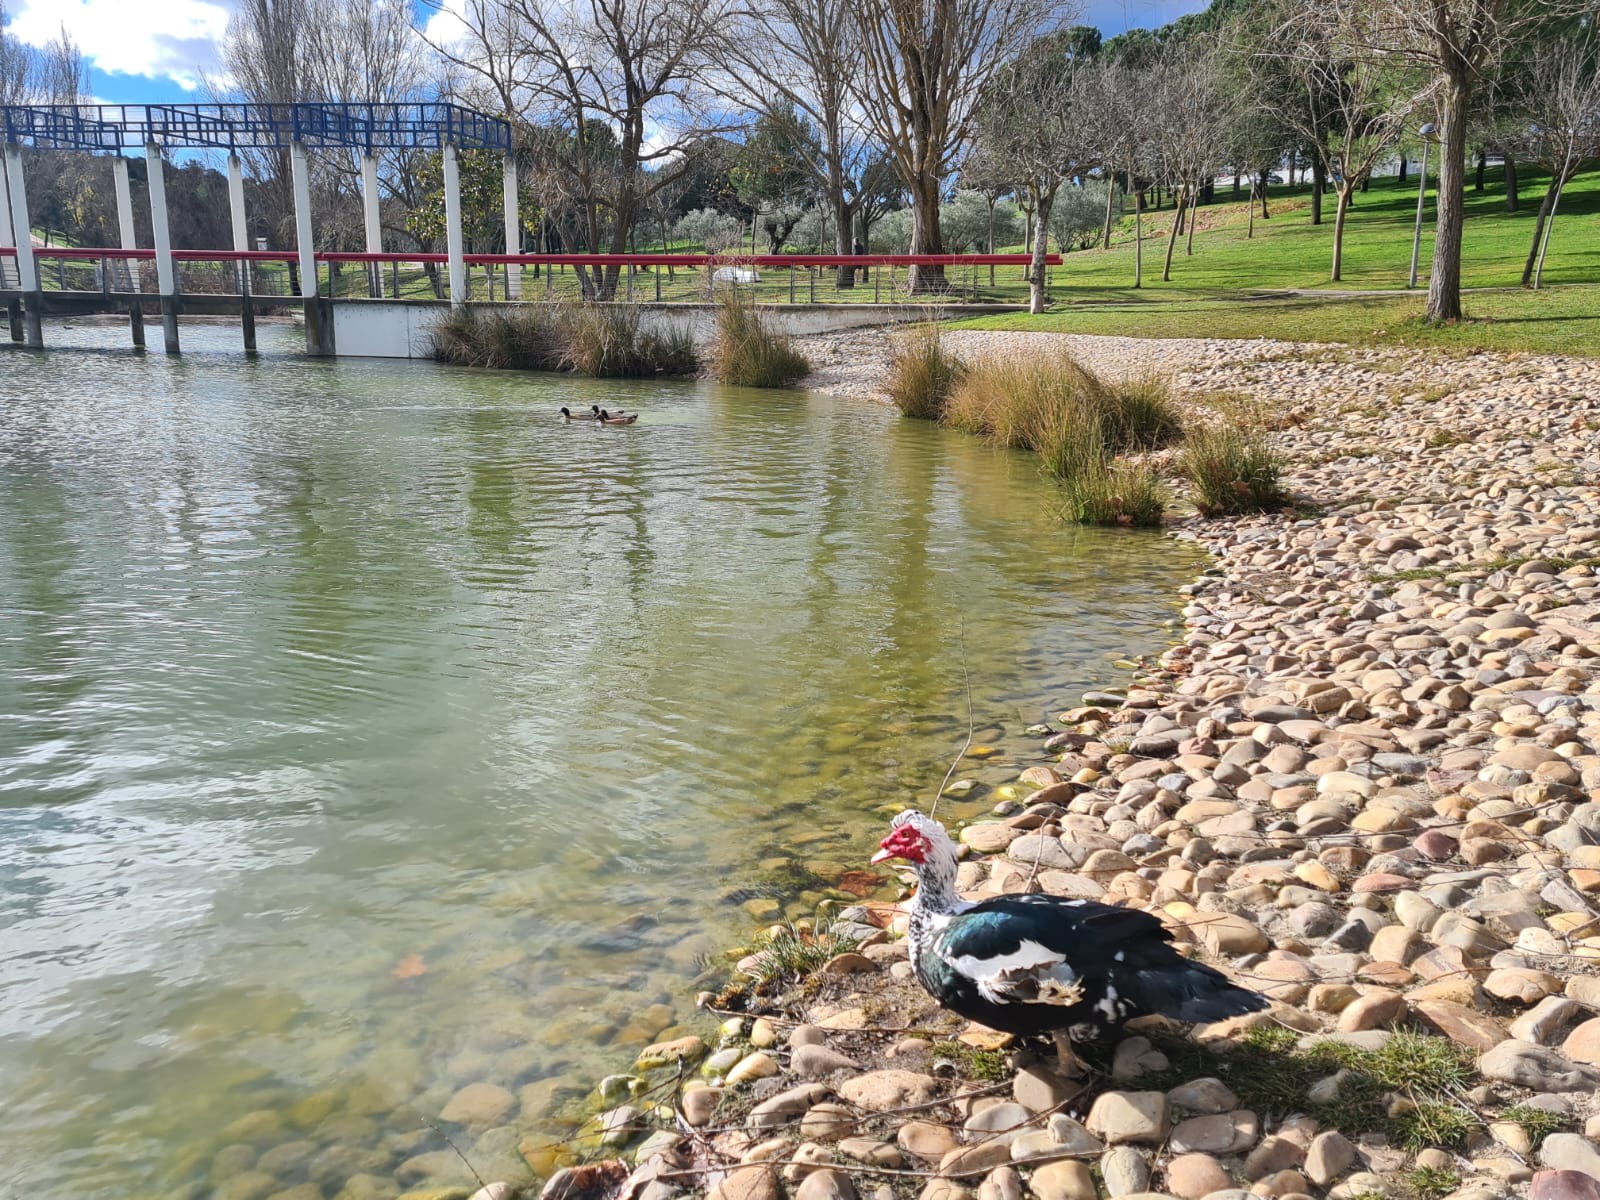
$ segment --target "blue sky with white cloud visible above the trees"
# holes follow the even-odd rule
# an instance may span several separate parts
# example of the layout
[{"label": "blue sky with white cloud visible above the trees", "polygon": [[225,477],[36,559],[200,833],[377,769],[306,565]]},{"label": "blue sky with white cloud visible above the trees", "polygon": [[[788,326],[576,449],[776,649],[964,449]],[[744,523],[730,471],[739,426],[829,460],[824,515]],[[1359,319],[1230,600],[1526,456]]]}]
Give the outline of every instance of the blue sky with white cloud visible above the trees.
[{"label": "blue sky with white cloud visible above the trees", "polygon": [[[686,0],[693,3],[693,0]],[[1110,37],[1162,26],[1205,8],[1206,0],[1090,0],[1085,22]],[[109,104],[200,99],[216,74],[216,45],[232,0],[10,0],[10,30],[45,45],[64,24],[83,46],[90,86]],[[419,8],[426,19],[427,11]]]}]

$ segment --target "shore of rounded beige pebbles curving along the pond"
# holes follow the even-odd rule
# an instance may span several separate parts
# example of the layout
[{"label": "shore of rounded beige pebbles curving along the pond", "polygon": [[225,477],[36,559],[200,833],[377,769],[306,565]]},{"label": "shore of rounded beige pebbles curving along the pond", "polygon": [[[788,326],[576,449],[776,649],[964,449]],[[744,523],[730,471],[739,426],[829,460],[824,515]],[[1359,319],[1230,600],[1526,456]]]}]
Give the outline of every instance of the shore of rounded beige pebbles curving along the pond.
[{"label": "shore of rounded beige pebbles curving along the pond", "polygon": [[[624,1158],[546,1197],[1600,1197],[1600,363],[950,341],[1058,342],[1278,414],[1299,510],[1184,522],[1214,565],[1186,589],[1182,642],[1128,688],[1062,698],[1026,770],[973,747],[941,806],[968,896],[1149,909],[1274,1006],[1189,1030],[1213,1074],[1174,1078],[1179,1030],[1150,1022],[1083,1090],[1002,1035],[941,1030],[904,915],[858,906],[861,944],[806,987],[611,1080],[645,1096],[600,1117]],[[888,349],[808,339],[808,386],[882,397]],[[1333,1061],[1272,1110],[1229,1077],[1250,1048],[1234,1062],[1402,1045],[1461,1077],[1376,1098],[1398,1122],[1382,1133],[1318,1120],[1354,1074]],[[672,1102],[645,1091],[667,1064],[691,1080]],[[1427,1144],[1405,1118],[1435,1099],[1462,1120]]]}]

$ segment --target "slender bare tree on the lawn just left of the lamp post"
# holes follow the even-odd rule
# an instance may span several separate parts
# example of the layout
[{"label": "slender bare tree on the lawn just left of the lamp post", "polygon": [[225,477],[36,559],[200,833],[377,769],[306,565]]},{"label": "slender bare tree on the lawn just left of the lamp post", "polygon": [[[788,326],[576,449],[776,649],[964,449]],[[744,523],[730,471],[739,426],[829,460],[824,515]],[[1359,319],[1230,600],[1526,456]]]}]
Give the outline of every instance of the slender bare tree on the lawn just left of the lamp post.
[{"label": "slender bare tree on the lawn just left of the lamp post", "polygon": [[[1392,62],[1360,53],[1365,3],[1299,0],[1258,50],[1272,72],[1256,104],[1299,136],[1338,189],[1333,278],[1342,274],[1350,197],[1400,141],[1418,102],[1414,90],[1395,80]],[[1278,91],[1285,80],[1293,88],[1286,94]]]}]

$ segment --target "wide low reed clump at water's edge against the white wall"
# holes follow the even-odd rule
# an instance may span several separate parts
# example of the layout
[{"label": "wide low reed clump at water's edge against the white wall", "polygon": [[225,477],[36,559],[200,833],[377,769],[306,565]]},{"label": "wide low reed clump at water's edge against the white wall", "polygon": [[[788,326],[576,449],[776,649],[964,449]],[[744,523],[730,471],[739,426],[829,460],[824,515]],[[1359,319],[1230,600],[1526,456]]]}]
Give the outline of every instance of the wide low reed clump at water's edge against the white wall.
[{"label": "wide low reed clump at water's edge against the white wall", "polygon": [[474,307],[443,314],[430,331],[434,358],[456,366],[510,371],[576,371],[595,378],[693,374],[699,360],[690,331],[642,328],[634,304],[539,304]]}]

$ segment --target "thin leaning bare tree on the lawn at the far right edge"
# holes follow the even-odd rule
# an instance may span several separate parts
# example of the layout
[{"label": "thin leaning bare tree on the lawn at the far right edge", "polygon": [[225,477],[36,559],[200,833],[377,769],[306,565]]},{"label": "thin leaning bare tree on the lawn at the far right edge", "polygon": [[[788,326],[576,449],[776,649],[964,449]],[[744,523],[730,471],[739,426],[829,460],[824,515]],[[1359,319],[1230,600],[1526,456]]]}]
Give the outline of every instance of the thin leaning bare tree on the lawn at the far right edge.
[{"label": "thin leaning bare tree on the lawn at the far right edge", "polygon": [[1544,253],[1562,189],[1584,160],[1600,155],[1600,64],[1592,42],[1562,38],[1536,48],[1520,99],[1530,125],[1522,144],[1525,157],[1550,173],[1539,205],[1533,245],[1522,269],[1522,286],[1538,288],[1544,277]]}]

